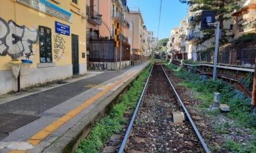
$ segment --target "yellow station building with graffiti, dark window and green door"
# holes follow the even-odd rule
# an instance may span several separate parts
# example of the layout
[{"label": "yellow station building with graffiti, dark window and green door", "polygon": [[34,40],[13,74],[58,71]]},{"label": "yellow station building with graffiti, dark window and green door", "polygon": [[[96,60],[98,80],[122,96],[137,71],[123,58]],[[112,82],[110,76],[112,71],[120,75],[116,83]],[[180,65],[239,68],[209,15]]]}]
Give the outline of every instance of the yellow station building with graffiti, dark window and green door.
[{"label": "yellow station building with graffiti, dark window and green door", "polygon": [[87,72],[86,1],[5,1],[0,14],[0,94]]}]

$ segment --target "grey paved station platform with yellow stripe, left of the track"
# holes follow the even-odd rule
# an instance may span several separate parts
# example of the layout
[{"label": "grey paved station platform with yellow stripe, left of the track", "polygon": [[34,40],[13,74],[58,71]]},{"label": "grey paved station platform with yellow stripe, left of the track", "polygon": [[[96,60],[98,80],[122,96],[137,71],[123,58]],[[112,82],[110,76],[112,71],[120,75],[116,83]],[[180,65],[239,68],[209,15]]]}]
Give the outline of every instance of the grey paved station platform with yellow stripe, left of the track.
[{"label": "grey paved station platform with yellow stripe, left of the track", "polygon": [[[86,126],[86,122],[94,119],[94,112],[106,107],[107,104],[101,102],[120,90],[148,64],[140,63],[120,72],[91,71],[91,77],[6,103],[2,101],[0,152],[58,152],[58,147],[53,147],[55,141],[62,140],[74,127]],[[79,131],[74,129],[72,136],[76,132]]]}]

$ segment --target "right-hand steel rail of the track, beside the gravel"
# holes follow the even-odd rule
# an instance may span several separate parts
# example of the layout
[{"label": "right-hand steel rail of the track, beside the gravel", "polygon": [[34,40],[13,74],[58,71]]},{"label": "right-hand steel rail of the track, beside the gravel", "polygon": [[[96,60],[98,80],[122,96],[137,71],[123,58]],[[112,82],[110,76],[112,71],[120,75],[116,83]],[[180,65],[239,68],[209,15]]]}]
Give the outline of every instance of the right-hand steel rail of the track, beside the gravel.
[{"label": "right-hand steel rail of the track, beside the gravel", "polygon": [[193,127],[195,133],[197,134],[197,137],[198,137],[198,139],[200,140],[200,143],[202,144],[202,147],[204,147],[204,150],[205,150],[206,153],[209,153],[210,151],[209,151],[207,145],[205,144],[204,139],[202,139],[201,134],[198,132],[197,127],[195,126],[195,124],[194,124],[192,118],[191,118],[190,115],[189,115],[189,112],[187,111],[187,108],[185,107],[184,103],[182,102],[182,99],[180,99],[179,94],[176,92],[176,89],[175,89],[174,86],[172,85],[172,82],[170,81],[170,79],[169,79],[168,75],[166,74],[165,70],[163,69],[162,64],[160,64],[160,65],[161,65],[161,68],[162,68],[163,72],[165,73],[166,78],[168,79],[170,85],[172,86],[172,89],[173,89],[173,91],[175,92],[176,97],[177,97],[177,99],[178,99],[180,105],[182,105],[182,108],[183,108],[184,112],[186,113],[187,118],[189,118],[189,122],[191,123],[191,125],[192,125],[192,127]]}]

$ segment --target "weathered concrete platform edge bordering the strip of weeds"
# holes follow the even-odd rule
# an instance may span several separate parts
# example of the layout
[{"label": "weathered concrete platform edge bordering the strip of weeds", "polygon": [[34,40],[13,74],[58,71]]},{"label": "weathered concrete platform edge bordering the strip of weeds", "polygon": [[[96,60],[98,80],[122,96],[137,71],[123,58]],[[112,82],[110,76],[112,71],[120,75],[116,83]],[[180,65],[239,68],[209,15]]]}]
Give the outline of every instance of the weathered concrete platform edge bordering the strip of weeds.
[{"label": "weathered concrete platform edge bordering the strip of weeds", "polygon": [[[150,63],[145,65],[147,67]],[[144,68],[145,68],[144,67]],[[111,110],[112,106],[115,103],[118,103],[120,96],[125,90],[129,87],[129,84],[133,82],[138,75],[144,70],[144,68],[138,72],[138,74],[134,75],[134,77],[130,78],[129,81],[124,83],[118,90],[113,92],[110,96],[106,97],[102,100],[97,107],[91,110],[86,116],[80,119],[72,128],[66,131],[62,137],[52,142],[52,144],[48,145],[49,147],[44,148],[41,152],[52,152],[52,153],[61,153],[61,152],[75,152],[77,146],[80,144],[81,139],[87,136],[90,132],[92,126],[95,123],[96,119],[104,118],[106,114]],[[34,152],[31,150],[29,152]]]}]

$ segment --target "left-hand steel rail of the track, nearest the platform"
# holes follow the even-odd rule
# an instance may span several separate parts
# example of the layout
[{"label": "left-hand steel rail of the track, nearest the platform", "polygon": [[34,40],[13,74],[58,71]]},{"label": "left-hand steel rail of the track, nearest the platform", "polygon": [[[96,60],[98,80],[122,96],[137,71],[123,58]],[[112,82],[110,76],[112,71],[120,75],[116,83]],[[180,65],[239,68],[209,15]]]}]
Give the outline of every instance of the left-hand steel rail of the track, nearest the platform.
[{"label": "left-hand steel rail of the track, nearest the platform", "polygon": [[[155,65],[155,64],[154,64],[154,65]],[[150,71],[150,74],[148,75],[148,79],[147,79],[147,82],[145,83],[143,92],[141,92],[140,100],[138,100],[138,104],[137,104],[136,109],[135,109],[135,111],[134,111],[133,117],[131,118],[131,122],[130,122],[130,124],[129,124],[129,126],[128,126],[127,132],[125,133],[125,137],[124,137],[124,139],[123,139],[122,145],[121,145],[121,147],[120,147],[120,150],[118,151],[119,153],[122,153],[123,150],[125,150],[125,145],[126,145],[127,139],[128,139],[128,137],[129,137],[131,128],[133,127],[134,119],[135,119],[135,117],[136,117],[136,115],[137,115],[138,108],[140,107],[141,100],[143,99],[143,95],[144,95],[145,89],[147,88],[148,81],[150,80],[150,75],[151,75],[151,72],[152,72],[152,70],[153,70],[153,68],[154,68],[154,65],[152,66],[151,71]]]}]

